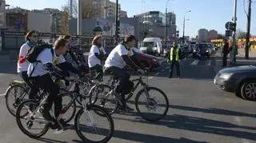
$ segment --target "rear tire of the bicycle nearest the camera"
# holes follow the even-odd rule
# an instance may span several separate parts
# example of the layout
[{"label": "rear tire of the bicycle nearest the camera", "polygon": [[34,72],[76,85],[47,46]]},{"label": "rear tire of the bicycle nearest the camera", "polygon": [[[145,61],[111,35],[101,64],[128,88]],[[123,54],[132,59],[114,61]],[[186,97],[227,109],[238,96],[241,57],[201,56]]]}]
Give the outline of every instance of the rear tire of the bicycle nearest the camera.
[{"label": "rear tire of the bicycle nearest the camera", "polygon": [[35,100],[26,100],[26,101],[23,101],[19,106],[18,106],[18,109],[17,109],[17,113],[16,113],[16,122],[18,124],[18,128],[21,129],[22,133],[26,134],[28,137],[34,137],[34,138],[38,138],[38,137],[42,137],[43,135],[45,135],[47,133],[47,131],[49,130],[50,128],[50,123],[46,124],[44,129],[42,129],[42,132],[40,133],[37,133],[37,134],[34,134],[34,133],[30,133],[28,132],[26,129],[24,129],[23,125],[22,125],[22,122],[21,122],[21,117],[19,116],[20,113],[21,113],[21,110],[22,110],[22,107],[23,105],[26,105],[28,102],[31,102],[35,105],[38,105],[38,101],[35,101]]}]

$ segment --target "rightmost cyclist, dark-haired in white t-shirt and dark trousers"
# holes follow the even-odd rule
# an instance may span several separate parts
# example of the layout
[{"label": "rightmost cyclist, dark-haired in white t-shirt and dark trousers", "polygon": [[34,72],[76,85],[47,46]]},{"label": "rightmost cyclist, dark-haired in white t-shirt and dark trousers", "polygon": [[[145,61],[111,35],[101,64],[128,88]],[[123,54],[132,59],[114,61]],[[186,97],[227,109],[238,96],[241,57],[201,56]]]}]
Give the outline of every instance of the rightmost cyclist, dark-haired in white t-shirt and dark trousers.
[{"label": "rightmost cyclist, dark-haired in white t-shirt and dark trousers", "polygon": [[[130,66],[134,70],[138,70],[139,73],[144,73],[144,70],[141,69],[142,65],[138,62],[138,59],[135,58],[134,53],[131,50],[131,48],[134,47],[135,43],[136,38],[134,37],[134,35],[127,36],[125,38],[125,41],[116,46],[114,50],[110,52],[108,58],[106,58],[106,70],[104,72],[113,73],[113,76],[118,78],[118,84],[114,88],[115,93],[122,94],[123,89],[133,88],[126,87],[127,83],[129,83],[130,81],[130,74],[126,73],[126,70],[124,70],[124,67],[126,65]],[[134,110],[126,105],[125,96],[123,94],[122,110]]]}]

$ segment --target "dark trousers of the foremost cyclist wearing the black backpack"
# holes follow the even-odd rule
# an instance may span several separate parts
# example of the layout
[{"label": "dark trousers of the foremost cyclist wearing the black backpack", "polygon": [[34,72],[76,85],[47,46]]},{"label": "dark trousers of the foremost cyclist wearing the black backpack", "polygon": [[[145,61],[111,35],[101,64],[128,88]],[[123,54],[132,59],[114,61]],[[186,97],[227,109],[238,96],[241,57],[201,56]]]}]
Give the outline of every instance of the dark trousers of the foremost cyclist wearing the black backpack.
[{"label": "dark trousers of the foremost cyclist wearing the black backpack", "polygon": [[37,93],[39,88],[45,89],[49,93],[43,108],[49,112],[54,103],[54,116],[58,117],[62,111],[62,97],[58,96],[59,87],[51,79],[50,74],[45,74],[41,77],[31,77],[31,83],[33,85],[31,93]]}]

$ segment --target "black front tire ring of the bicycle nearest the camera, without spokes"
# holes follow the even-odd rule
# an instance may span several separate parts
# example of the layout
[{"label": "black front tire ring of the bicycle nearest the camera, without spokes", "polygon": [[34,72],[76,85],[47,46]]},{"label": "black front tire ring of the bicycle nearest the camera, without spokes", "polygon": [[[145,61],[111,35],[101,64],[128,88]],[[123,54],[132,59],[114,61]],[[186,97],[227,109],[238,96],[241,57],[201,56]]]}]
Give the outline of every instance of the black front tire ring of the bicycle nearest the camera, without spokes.
[{"label": "black front tire ring of the bicycle nearest the camera, without spokes", "polygon": [[108,111],[106,111],[106,109],[102,108],[101,106],[98,106],[98,105],[87,105],[87,110],[91,110],[93,109],[94,111],[95,110],[98,110],[98,112],[102,112],[101,114],[103,114],[103,117],[106,117],[107,120],[109,121],[109,124],[110,124],[110,132],[109,134],[104,138],[102,139],[102,141],[90,141],[89,139],[87,139],[86,137],[84,137],[81,133],[81,129],[79,129],[78,127],[78,124],[79,124],[79,118],[81,117],[82,113],[84,112],[84,109],[79,109],[76,117],[75,117],[75,120],[74,120],[74,128],[78,134],[78,137],[80,137],[82,139],[82,141],[84,142],[91,142],[91,143],[105,143],[107,141],[110,141],[111,137],[113,137],[114,135],[114,121],[113,121],[113,118],[111,117],[110,113],[108,113]]}]

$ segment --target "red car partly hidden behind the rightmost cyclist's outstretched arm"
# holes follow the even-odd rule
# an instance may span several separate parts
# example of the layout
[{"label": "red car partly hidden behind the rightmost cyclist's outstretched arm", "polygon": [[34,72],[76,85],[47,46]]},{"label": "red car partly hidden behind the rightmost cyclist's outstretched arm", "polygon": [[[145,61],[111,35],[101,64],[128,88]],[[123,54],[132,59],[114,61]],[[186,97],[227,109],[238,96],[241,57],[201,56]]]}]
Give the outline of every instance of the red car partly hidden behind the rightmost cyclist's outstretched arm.
[{"label": "red car partly hidden behind the rightmost cyclist's outstretched arm", "polygon": [[156,69],[161,65],[158,58],[150,54],[144,54],[141,50],[138,50],[137,48],[132,48],[132,50],[136,55],[136,58],[138,58],[138,61],[144,64],[146,67],[150,68],[150,70]]}]

